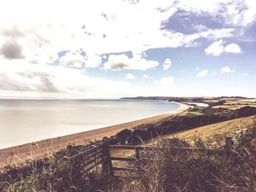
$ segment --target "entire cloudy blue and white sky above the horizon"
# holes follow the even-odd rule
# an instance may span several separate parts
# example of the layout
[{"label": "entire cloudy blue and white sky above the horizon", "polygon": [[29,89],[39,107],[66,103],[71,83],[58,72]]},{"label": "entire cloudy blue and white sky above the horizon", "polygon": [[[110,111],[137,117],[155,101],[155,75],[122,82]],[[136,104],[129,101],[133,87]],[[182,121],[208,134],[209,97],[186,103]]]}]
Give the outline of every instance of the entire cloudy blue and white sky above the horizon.
[{"label": "entire cloudy blue and white sky above the horizon", "polygon": [[0,3],[0,97],[256,97],[255,50],[255,0]]}]

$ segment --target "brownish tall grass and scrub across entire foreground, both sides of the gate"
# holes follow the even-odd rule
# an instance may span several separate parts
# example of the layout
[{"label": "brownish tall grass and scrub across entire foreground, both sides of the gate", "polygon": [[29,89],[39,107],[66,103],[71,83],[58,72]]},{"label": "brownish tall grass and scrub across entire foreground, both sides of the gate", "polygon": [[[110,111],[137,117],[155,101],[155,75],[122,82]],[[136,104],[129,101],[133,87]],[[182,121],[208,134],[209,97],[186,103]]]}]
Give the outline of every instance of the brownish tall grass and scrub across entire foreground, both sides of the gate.
[{"label": "brownish tall grass and scrub across entire foreground, both sides of the gate", "polygon": [[[189,144],[177,138],[160,139],[156,150],[141,153],[151,160],[131,164],[137,171],[122,180],[110,180],[100,167],[81,174],[80,162],[70,166],[62,150],[37,164],[1,172],[1,191],[256,191],[256,124],[249,130],[231,155],[177,153],[162,146]],[[205,147],[200,139],[195,143]]]}]

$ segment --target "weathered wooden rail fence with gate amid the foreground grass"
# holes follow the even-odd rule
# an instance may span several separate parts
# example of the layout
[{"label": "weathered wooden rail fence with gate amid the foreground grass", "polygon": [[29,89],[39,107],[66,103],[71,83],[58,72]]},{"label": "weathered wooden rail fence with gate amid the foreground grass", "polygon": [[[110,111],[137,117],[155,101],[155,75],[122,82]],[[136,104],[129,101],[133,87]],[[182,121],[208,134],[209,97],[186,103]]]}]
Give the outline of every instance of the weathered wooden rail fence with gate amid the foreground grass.
[{"label": "weathered wooden rail fence with gate amid the foreground grass", "polygon": [[[89,172],[95,166],[102,164],[103,170],[114,175],[115,171],[133,171],[135,168],[113,166],[113,161],[130,162],[137,161],[138,164],[143,161],[153,160],[150,158],[142,158],[142,150],[170,150],[173,153],[177,152],[202,152],[208,155],[230,155],[233,141],[231,137],[226,137],[225,145],[219,149],[205,149],[195,147],[156,147],[156,146],[143,146],[143,145],[109,145],[109,141],[99,142],[97,144],[86,147],[82,150],[74,151],[72,145],[67,146],[67,155],[64,156],[70,165],[74,165],[79,161],[80,172]],[[110,150],[134,150],[135,157],[114,157],[111,155]],[[157,160],[157,159],[154,159]]]}]

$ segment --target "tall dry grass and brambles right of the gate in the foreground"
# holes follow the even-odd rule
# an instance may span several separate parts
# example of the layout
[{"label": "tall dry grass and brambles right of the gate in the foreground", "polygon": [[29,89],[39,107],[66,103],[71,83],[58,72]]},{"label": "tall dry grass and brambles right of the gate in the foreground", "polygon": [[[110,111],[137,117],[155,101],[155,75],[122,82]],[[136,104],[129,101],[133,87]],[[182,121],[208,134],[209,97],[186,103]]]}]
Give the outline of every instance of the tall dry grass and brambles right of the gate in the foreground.
[{"label": "tall dry grass and brambles right of the gate in the foreground", "polygon": [[[177,138],[159,140],[156,150],[144,151],[135,177],[116,191],[256,191],[256,127],[242,135],[232,155],[174,152],[163,148],[189,147]],[[199,139],[196,147],[204,147]]]}]

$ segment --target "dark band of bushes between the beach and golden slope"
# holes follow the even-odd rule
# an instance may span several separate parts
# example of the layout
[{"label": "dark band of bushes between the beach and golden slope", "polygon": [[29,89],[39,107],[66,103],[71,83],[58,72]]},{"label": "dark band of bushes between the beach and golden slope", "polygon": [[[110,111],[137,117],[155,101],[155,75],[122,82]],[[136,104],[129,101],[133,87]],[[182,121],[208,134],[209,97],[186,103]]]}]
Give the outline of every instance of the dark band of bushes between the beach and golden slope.
[{"label": "dark band of bushes between the beach and golden slope", "polygon": [[186,131],[199,126],[206,126],[235,118],[244,118],[251,115],[256,115],[256,107],[246,106],[239,110],[194,107],[186,115],[165,120],[159,125],[144,124],[136,126],[132,131],[125,129],[116,134],[116,137],[111,140],[111,144],[128,143],[129,145],[138,145],[141,140],[145,142],[152,137],[173,134],[177,131]]}]

